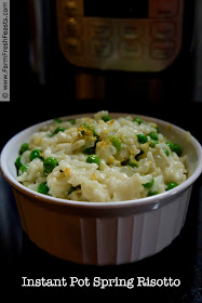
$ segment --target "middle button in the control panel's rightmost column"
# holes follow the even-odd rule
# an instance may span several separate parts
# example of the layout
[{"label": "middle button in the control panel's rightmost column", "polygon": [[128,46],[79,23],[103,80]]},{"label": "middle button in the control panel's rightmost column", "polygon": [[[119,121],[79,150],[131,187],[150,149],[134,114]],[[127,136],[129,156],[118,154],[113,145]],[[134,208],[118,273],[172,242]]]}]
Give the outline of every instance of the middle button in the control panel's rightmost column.
[{"label": "middle button in the control panel's rightmost column", "polygon": [[172,22],[156,22],[151,25],[153,39],[167,40],[175,37],[175,24]]}]

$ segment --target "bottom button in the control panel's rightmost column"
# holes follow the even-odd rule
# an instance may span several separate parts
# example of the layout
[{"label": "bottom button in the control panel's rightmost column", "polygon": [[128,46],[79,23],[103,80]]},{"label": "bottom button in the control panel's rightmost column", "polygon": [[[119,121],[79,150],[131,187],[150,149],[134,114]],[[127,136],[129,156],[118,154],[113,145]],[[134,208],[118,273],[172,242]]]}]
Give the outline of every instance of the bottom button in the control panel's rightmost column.
[{"label": "bottom button in the control panel's rightmost column", "polygon": [[169,60],[175,51],[174,42],[153,42],[150,47],[150,56],[154,60]]}]

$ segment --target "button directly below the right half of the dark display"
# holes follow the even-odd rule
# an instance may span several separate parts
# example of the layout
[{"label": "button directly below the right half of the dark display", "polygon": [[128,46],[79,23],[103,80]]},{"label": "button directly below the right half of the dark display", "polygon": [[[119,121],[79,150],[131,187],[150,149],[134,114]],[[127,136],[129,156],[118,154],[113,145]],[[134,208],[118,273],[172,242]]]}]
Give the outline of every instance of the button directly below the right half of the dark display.
[{"label": "button directly below the right half of the dark display", "polygon": [[142,36],[143,28],[134,23],[121,23],[120,35],[124,39],[137,39]]}]

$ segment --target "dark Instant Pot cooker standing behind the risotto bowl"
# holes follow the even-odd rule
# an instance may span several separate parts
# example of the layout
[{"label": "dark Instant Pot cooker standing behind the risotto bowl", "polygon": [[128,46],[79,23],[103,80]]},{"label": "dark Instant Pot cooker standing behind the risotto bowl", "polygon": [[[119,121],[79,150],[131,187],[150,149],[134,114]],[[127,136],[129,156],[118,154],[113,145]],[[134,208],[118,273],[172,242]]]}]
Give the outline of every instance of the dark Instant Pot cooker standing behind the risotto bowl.
[{"label": "dark Instant Pot cooker standing behind the risotto bowl", "polygon": [[32,69],[75,104],[185,104],[193,87],[194,4],[29,0]]}]

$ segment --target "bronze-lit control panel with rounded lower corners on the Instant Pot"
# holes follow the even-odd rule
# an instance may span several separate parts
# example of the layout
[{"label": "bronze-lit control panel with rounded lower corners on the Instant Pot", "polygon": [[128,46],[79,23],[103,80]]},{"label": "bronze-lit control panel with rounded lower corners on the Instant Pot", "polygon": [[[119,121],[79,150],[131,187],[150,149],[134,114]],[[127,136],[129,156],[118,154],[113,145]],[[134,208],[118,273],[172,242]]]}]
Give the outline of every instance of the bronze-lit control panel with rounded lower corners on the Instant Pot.
[{"label": "bronze-lit control panel with rounded lower corners on the Instant Pot", "polygon": [[169,67],[181,49],[184,0],[117,2],[57,0],[58,40],[67,61],[104,70]]}]

